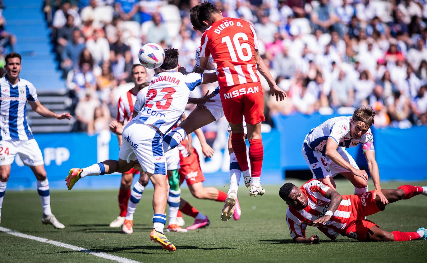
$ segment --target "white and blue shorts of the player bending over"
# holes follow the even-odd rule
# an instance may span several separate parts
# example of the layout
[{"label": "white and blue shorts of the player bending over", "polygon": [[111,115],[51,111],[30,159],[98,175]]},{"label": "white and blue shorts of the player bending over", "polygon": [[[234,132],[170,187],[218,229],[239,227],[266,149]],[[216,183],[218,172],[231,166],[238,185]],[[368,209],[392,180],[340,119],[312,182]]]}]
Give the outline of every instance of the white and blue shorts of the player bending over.
[{"label": "white and blue shorts of the player bending over", "polygon": [[[347,162],[350,163],[356,169],[359,169],[356,161],[351,157],[351,155],[344,149],[344,147],[338,147],[336,151],[341,155],[341,157]],[[340,173],[348,173],[345,168],[342,168],[338,164],[330,160],[329,157],[322,156],[322,154],[313,151],[306,143],[302,145],[302,156],[304,156],[305,162],[310,167],[310,171],[313,173],[313,179],[321,179],[326,177],[333,177]]]}]

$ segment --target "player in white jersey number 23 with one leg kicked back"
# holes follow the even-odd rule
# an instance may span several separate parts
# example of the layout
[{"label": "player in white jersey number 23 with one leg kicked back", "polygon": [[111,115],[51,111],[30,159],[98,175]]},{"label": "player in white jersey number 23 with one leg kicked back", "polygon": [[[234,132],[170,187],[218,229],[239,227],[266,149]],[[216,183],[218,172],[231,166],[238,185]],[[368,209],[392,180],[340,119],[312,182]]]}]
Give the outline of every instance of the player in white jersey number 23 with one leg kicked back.
[{"label": "player in white jersey number 23 with one leg kicked back", "polygon": [[160,66],[161,73],[150,81],[144,107],[123,129],[118,161],[105,160],[84,169],[70,169],[65,179],[68,189],[72,189],[80,178],[125,172],[138,159],[154,186],[154,227],[150,238],[170,251],[176,249],[163,233],[168,185],[162,137],[180,119],[191,91],[202,83],[216,81],[215,73],[184,75],[177,72],[178,68],[178,50],[166,49],[164,62]]}]

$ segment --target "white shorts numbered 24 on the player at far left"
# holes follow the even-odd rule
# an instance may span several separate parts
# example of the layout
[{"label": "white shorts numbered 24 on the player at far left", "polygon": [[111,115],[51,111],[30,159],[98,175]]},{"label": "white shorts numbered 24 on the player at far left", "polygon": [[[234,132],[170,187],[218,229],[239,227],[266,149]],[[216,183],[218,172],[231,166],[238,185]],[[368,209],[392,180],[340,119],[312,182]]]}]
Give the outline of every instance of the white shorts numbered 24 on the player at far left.
[{"label": "white shorts numbered 24 on the player at far left", "polygon": [[18,154],[26,166],[43,165],[43,155],[35,139],[0,140],[0,166],[10,165]]}]

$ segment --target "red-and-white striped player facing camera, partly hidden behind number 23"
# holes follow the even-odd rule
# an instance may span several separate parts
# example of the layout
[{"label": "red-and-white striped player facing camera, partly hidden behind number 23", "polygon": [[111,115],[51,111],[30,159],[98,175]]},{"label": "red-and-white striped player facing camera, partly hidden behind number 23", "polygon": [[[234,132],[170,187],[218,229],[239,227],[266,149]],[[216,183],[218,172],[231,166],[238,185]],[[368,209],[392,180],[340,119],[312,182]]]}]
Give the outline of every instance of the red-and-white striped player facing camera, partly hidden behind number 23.
[{"label": "red-and-white striped player facing camera, partly hidden behind number 23", "polygon": [[[137,100],[137,93],[144,87],[148,86],[146,81],[148,80],[147,70],[140,64],[135,64],[132,66],[132,80],[135,86],[127,91],[125,94],[121,95],[117,103],[117,120],[113,120],[110,123],[110,129],[112,132],[117,134],[117,139],[119,141],[119,147],[122,145],[122,133],[121,130],[117,131],[119,126],[126,125],[132,119],[132,113],[134,111],[134,105]],[[146,85],[144,85],[146,83]],[[126,213],[128,210],[129,198],[131,198],[131,185],[132,180],[135,174],[138,173],[138,170],[135,168],[130,169],[127,172],[122,173],[122,180],[120,181],[120,189],[118,195],[118,203],[120,214],[119,216],[110,223],[110,227],[121,227],[125,222]],[[145,173],[141,173],[140,180],[141,186],[137,186],[140,190],[139,195],[142,195],[145,186],[148,184],[148,176]]]}]

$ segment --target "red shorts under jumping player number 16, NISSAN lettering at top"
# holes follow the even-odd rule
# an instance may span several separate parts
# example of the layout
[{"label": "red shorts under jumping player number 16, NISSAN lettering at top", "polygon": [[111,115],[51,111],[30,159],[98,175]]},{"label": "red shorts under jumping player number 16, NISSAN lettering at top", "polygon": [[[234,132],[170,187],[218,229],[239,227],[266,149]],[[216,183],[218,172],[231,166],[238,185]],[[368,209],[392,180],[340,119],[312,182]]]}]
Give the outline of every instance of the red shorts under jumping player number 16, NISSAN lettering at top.
[{"label": "red shorts under jumping player number 16, NISSAN lettering at top", "polygon": [[233,123],[243,122],[252,125],[265,120],[264,94],[260,82],[251,82],[219,89],[225,118]]}]

